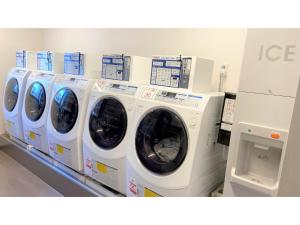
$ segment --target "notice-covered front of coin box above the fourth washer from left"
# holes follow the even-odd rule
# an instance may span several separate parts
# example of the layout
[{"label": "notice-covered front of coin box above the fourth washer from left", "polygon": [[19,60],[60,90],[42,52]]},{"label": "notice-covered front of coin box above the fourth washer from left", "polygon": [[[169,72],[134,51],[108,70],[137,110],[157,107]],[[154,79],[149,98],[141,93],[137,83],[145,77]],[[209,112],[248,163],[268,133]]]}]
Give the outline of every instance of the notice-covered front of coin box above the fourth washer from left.
[{"label": "notice-covered front of coin box above the fourth washer from left", "polygon": [[102,57],[103,79],[129,81],[130,56],[124,55],[104,55]]}]

